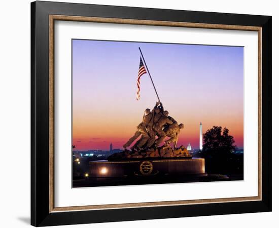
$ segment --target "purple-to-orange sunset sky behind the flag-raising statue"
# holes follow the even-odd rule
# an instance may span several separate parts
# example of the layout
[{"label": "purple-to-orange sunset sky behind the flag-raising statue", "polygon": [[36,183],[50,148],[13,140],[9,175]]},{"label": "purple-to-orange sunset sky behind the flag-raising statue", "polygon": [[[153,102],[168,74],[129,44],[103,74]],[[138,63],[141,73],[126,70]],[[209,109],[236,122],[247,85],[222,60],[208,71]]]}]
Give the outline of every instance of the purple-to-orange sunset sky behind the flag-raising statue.
[{"label": "purple-to-orange sunset sky behind the flag-raising statue", "polygon": [[157,97],[148,74],[136,79],[141,47],[169,116],[183,123],[178,145],[198,148],[214,125],[243,147],[243,47],[73,40],[73,144],[77,150],[122,145]]}]

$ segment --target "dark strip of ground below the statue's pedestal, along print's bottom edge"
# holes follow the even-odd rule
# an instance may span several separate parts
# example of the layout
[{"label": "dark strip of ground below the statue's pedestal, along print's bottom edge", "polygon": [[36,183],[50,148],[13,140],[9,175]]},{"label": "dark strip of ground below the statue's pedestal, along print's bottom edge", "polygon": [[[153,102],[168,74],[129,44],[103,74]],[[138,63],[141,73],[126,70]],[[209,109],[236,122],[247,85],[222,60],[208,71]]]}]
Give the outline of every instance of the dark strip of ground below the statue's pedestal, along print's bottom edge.
[{"label": "dark strip of ground below the statue's pedestal, along print's bottom edge", "polygon": [[114,178],[80,178],[73,180],[73,187],[117,186],[138,184],[187,183],[243,180],[243,175],[199,174],[184,176],[136,176]]}]

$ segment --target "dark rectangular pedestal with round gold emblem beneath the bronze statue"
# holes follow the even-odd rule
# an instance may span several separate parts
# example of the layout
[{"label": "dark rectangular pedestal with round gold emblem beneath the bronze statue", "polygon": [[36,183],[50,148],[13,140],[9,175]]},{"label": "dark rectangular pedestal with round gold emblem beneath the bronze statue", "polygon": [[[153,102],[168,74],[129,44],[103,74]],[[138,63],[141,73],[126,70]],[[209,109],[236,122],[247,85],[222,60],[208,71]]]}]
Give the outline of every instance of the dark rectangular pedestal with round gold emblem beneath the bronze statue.
[{"label": "dark rectangular pedestal with round gold emblem beneath the bronze statue", "polygon": [[148,177],[205,174],[203,158],[133,158],[122,161],[92,161],[89,177]]}]

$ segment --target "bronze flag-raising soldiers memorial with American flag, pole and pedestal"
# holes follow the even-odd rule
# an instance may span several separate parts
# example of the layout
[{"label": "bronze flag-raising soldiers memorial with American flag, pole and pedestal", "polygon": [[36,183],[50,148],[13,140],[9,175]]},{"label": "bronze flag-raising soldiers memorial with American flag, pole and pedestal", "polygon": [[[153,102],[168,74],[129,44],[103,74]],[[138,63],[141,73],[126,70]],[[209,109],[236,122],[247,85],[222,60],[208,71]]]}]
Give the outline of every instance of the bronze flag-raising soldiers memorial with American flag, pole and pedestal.
[{"label": "bronze flag-raising soldiers memorial with American flag, pole and pedestal", "polygon": [[[141,76],[148,72],[158,101],[152,110],[147,108],[144,111],[142,122],[137,125],[134,135],[123,145],[122,152],[109,156],[108,161],[89,162],[89,176],[98,180],[140,178],[142,183],[145,183],[144,179],[150,178],[162,180],[168,177],[168,180],[161,182],[171,182],[169,177],[197,180],[199,177],[206,176],[204,159],[192,158],[183,145],[177,147],[179,134],[183,131],[184,124],[179,124],[168,115],[167,110],[164,110],[142,51],[138,49],[141,52],[141,58],[136,99],[140,99]],[[133,142],[135,143],[130,147]]]}]

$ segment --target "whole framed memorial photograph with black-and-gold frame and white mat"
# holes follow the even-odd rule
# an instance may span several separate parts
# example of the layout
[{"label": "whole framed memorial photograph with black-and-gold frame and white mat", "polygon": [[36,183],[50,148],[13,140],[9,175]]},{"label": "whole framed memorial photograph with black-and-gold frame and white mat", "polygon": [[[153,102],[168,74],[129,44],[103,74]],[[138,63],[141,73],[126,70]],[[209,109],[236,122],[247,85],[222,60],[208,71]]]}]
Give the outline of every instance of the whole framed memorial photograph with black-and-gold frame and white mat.
[{"label": "whole framed memorial photograph with black-and-gold frame and white mat", "polygon": [[271,16],[31,3],[31,224],[271,211]]}]

